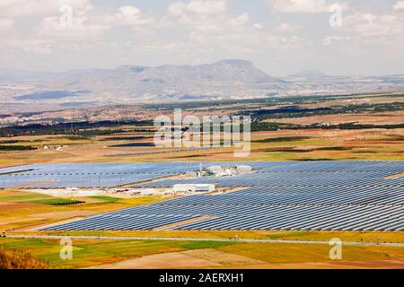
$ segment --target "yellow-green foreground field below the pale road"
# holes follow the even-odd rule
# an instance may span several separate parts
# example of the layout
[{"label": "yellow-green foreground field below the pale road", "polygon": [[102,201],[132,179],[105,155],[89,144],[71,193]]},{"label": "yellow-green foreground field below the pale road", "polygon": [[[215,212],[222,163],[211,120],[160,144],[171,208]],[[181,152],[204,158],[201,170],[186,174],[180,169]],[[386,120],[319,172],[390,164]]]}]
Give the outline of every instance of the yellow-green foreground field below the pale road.
[{"label": "yellow-green foreground field below the pale road", "polygon": [[402,268],[404,253],[394,247],[344,247],[332,261],[327,245],[220,241],[74,239],[72,260],[59,257],[51,239],[0,239],[51,268]]}]

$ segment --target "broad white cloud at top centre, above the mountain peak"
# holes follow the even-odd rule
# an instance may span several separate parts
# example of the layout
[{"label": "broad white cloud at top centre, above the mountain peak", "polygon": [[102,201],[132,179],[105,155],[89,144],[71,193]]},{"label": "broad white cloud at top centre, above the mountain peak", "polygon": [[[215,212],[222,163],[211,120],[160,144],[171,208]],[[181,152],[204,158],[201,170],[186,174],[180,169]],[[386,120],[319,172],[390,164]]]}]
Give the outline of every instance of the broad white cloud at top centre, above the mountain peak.
[{"label": "broad white cloud at top centre, above the mountain peak", "polygon": [[304,45],[298,37],[280,37],[264,29],[261,23],[251,22],[247,12],[240,15],[229,13],[225,1],[176,2],[169,5],[167,11],[174,29],[186,30],[187,33],[164,48],[170,53],[181,50],[180,57],[188,57],[193,63],[215,60],[215,55],[249,57],[247,55],[272,48]]}]

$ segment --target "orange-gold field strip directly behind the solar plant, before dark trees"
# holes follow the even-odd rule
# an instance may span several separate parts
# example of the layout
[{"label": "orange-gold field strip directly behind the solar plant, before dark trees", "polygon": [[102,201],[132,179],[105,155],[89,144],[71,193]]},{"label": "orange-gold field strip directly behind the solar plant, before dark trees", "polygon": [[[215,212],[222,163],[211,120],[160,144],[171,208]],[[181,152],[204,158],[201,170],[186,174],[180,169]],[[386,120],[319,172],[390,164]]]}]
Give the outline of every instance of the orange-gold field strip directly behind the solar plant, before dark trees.
[{"label": "orange-gold field strip directly behind the solar plant, before dark trees", "polygon": [[[0,152],[0,167],[30,163],[58,162],[145,162],[145,161],[298,161],[298,160],[404,160],[400,136],[404,129],[365,130],[282,130],[254,132],[251,135],[250,156],[235,158],[233,148],[211,151],[169,152],[161,154],[106,157],[106,154],[161,150],[154,147],[107,147],[130,141],[104,141],[96,136],[91,140],[68,141],[61,136],[36,136],[43,143],[67,145],[56,149],[19,152]],[[126,136],[139,134],[127,133]],[[303,140],[282,138],[303,137]],[[2,138],[0,138],[2,139]],[[13,139],[20,139],[15,137]],[[26,137],[23,137],[26,139]],[[274,139],[274,142],[270,140]],[[266,142],[259,142],[266,140]],[[32,143],[29,143],[32,144]],[[42,143],[40,143],[42,144]],[[46,144],[44,144],[46,145]]]}]

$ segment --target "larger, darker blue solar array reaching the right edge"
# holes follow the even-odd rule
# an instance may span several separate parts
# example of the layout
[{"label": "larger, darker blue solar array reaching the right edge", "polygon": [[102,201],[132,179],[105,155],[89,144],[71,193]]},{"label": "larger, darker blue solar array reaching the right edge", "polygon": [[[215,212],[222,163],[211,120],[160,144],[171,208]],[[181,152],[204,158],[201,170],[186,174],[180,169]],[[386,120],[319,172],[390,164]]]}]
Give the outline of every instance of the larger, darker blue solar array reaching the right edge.
[{"label": "larger, darker blue solar array reaching the right edge", "polygon": [[[203,167],[234,164],[204,163]],[[404,230],[404,178],[400,176],[404,161],[237,164],[248,164],[255,170],[233,177],[162,179],[134,186],[215,183],[216,187],[244,187],[242,190],[183,196],[44,230]],[[185,172],[198,170],[199,163],[151,163],[126,168],[153,170],[157,176],[161,173],[155,169]]]}]

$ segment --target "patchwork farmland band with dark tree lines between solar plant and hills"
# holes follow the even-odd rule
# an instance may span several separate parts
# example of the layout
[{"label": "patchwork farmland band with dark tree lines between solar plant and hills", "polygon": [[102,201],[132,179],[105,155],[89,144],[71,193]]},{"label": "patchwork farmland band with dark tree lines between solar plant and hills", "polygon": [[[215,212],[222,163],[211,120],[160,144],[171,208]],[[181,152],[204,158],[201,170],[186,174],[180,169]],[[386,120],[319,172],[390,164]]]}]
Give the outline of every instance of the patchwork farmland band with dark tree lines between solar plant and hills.
[{"label": "patchwork farmland band with dark tree lines between solar plant and hills", "polygon": [[[165,152],[163,157],[160,153],[138,154],[173,150],[154,147],[155,127],[151,121],[156,110],[172,117],[173,109],[178,108],[184,110],[183,116],[250,115],[254,120],[251,151],[245,161],[403,160],[403,103],[403,95],[196,102],[147,105],[145,122],[73,122],[34,131],[30,127],[4,127],[0,128],[0,167],[57,162],[237,160],[234,147]],[[122,155],[108,156],[111,154]]]}]

